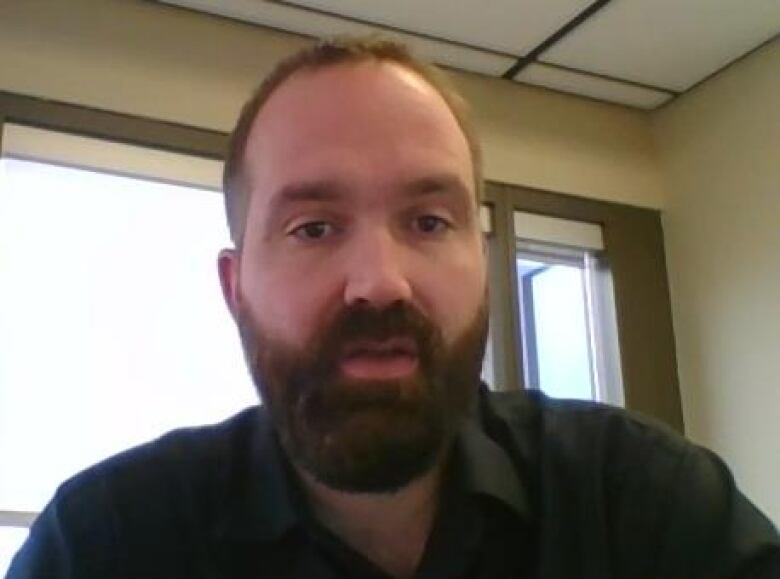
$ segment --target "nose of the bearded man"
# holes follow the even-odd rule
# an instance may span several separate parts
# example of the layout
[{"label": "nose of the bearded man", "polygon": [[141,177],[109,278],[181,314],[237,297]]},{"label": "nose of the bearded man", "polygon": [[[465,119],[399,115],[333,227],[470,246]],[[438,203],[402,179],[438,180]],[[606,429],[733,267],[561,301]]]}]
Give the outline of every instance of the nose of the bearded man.
[{"label": "nose of the bearded man", "polygon": [[389,231],[374,229],[353,240],[347,260],[344,301],[383,309],[411,301],[403,245]]}]

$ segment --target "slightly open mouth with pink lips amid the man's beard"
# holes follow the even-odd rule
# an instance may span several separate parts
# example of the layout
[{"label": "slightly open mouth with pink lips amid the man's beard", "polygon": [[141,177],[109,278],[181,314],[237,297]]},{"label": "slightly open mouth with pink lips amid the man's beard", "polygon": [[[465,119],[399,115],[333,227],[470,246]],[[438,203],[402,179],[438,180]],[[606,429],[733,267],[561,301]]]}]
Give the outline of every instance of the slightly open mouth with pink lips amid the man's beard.
[{"label": "slightly open mouth with pink lips amid the man's beard", "polygon": [[392,380],[412,375],[418,367],[417,344],[412,338],[359,340],[341,356],[342,373],[356,380]]}]

